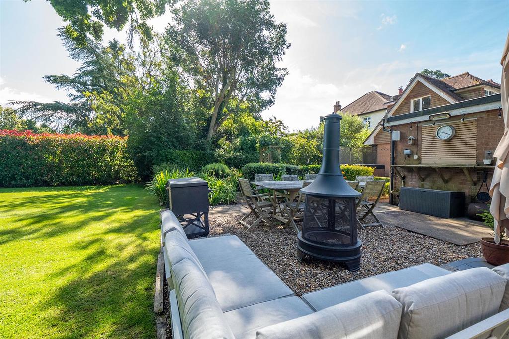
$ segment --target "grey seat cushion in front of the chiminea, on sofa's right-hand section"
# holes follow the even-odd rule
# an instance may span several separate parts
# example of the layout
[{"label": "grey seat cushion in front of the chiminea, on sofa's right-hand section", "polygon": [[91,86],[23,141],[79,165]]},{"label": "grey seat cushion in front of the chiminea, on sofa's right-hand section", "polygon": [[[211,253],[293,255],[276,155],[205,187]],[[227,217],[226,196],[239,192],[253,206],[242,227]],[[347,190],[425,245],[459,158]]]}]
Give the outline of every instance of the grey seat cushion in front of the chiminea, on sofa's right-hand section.
[{"label": "grey seat cushion in front of the chiminea, on sofa's right-hand section", "polygon": [[395,288],[410,286],[423,280],[450,273],[450,271],[444,268],[425,263],[305,293],[302,299],[318,311],[367,293],[379,290],[385,290],[390,293]]}]

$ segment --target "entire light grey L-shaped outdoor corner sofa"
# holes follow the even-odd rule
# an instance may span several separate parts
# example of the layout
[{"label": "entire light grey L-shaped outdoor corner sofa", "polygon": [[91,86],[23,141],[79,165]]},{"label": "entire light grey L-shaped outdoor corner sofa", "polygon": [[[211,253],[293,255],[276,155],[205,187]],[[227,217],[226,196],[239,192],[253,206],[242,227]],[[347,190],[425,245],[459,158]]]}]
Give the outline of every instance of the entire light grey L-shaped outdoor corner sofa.
[{"label": "entire light grey L-shaped outdoor corner sofa", "polygon": [[187,240],[165,210],[161,242],[175,339],[508,337],[509,264],[425,263],[299,298],[236,236]]}]

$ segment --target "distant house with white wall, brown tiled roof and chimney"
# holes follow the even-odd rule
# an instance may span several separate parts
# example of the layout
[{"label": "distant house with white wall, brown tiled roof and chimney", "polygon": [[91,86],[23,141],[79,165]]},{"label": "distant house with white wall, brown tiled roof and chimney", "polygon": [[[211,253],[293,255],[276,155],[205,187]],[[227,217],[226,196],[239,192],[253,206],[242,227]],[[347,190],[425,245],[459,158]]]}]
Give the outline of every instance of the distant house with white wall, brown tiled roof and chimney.
[{"label": "distant house with white wall, brown tiled roof and chimney", "polygon": [[356,99],[346,107],[342,108],[339,101],[336,101],[333,107],[333,112],[348,112],[352,115],[358,115],[364,125],[370,130],[382,120],[387,112],[386,103],[391,100],[391,96],[373,90]]}]

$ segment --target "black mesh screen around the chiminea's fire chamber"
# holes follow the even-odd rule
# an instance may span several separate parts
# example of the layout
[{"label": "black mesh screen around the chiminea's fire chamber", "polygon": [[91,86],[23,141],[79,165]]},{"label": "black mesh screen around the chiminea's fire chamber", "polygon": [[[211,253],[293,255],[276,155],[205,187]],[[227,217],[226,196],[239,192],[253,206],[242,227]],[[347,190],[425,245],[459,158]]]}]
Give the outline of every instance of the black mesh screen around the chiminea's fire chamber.
[{"label": "black mesh screen around the chiminea's fire chamber", "polygon": [[306,194],[302,238],[324,245],[357,242],[355,198],[323,198]]}]

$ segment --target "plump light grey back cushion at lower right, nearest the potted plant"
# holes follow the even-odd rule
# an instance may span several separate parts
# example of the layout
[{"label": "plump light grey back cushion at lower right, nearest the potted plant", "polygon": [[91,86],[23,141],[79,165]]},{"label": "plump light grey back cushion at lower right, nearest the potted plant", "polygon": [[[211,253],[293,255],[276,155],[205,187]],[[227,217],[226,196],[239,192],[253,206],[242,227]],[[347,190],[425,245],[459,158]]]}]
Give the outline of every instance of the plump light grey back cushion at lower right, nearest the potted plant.
[{"label": "plump light grey back cushion at lower right, nearest the potted plant", "polygon": [[498,311],[505,280],[487,267],[470,268],[395,289],[403,305],[399,338],[444,338]]}]

